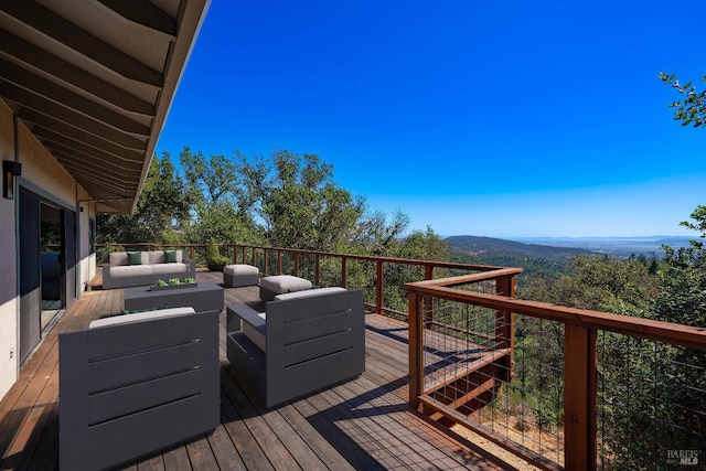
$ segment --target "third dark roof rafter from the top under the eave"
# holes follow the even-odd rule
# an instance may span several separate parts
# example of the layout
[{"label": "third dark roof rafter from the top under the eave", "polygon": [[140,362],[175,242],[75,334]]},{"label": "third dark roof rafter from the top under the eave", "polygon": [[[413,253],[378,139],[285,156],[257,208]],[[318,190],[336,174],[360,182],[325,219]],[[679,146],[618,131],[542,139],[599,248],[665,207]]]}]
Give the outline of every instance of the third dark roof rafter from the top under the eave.
[{"label": "third dark roof rafter from the top under the eave", "polygon": [[[0,4],[4,4],[4,1]],[[0,29],[0,43],[3,45],[3,52],[44,74],[83,89],[117,108],[138,115],[154,116],[153,104],[147,103],[2,29]]]}]

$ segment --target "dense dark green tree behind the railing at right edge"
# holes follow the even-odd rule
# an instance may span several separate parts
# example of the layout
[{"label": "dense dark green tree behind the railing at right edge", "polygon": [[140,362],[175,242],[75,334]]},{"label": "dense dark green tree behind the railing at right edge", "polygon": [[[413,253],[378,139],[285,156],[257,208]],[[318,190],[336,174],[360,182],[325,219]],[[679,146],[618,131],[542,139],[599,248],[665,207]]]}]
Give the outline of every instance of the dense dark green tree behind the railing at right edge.
[{"label": "dense dark green tree behind the railing at right edge", "polygon": [[[706,236],[706,207],[681,225]],[[659,290],[645,315],[665,322],[706,328],[706,250],[663,246]],[[614,468],[648,468],[664,462],[667,450],[706,449],[706,352],[668,343],[606,334],[601,368],[605,445]],[[625,367],[629,365],[629,367]],[[617,367],[616,367],[617,366]],[[629,397],[621,388],[628,389]]]}]

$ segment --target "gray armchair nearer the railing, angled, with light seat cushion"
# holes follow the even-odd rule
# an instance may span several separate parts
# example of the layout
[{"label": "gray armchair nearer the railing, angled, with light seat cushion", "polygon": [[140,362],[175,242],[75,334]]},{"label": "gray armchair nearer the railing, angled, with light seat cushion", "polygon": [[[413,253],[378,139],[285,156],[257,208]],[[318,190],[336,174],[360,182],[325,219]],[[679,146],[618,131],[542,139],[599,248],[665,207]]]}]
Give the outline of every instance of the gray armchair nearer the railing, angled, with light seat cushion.
[{"label": "gray armchair nearer the railing, angled, with light seat cushion", "polygon": [[365,371],[361,290],[290,292],[258,313],[227,308],[227,355],[236,378],[258,403],[272,407]]}]

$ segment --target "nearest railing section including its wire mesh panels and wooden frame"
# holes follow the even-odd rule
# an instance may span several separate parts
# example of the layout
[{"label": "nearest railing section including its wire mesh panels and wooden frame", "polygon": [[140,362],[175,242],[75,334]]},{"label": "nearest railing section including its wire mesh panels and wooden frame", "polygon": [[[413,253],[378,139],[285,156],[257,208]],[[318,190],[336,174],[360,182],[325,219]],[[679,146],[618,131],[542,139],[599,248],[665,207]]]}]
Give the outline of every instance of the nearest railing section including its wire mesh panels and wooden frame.
[{"label": "nearest railing section including its wire mesh panels and wooden frame", "polygon": [[512,287],[501,271],[406,286],[413,407],[542,469],[698,462],[706,329],[517,300]]}]

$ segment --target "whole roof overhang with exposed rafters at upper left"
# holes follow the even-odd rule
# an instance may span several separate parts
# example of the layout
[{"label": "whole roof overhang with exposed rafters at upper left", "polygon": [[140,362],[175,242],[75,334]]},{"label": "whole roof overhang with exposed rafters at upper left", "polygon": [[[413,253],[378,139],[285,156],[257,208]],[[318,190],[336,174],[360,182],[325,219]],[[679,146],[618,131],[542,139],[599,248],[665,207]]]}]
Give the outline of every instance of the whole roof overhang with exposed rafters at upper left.
[{"label": "whole roof overhang with exposed rafters at upper left", "polygon": [[135,208],[208,3],[0,1],[0,99],[99,211]]}]

